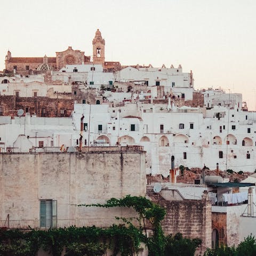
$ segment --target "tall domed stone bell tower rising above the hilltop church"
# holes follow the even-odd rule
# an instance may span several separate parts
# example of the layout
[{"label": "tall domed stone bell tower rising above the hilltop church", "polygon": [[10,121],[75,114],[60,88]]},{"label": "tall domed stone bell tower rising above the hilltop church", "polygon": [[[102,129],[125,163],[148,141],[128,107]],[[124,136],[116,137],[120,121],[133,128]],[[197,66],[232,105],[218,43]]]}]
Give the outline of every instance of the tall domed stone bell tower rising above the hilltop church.
[{"label": "tall domed stone bell tower rising above the hilltop church", "polygon": [[105,67],[105,39],[102,39],[100,30],[97,29],[92,41],[93,63]]}]

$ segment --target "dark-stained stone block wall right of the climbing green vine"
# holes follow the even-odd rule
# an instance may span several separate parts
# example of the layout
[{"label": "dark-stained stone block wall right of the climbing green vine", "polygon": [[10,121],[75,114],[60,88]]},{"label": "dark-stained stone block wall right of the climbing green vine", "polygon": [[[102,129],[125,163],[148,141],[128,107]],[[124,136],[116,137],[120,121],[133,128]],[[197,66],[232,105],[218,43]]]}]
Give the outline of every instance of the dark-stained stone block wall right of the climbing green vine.
[{"label": "dark-stained stone block wall right of the climbing green vine", "polygon": [[[189,238],[201,238],[202,245],[196,255],[203,255],[211,247],[211,204],[204,200],[159,201],[166,209],[162,222],[165,234],[180,232]],[[163,202],[163,203],[162,203]]]}]

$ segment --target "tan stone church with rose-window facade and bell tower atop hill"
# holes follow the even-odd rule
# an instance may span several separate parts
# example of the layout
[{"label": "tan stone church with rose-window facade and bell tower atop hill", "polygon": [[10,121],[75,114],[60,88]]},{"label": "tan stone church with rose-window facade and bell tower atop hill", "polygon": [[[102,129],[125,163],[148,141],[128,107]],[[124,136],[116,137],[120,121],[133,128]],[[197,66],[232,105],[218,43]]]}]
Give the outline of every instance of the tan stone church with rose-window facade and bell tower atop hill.
[{"label": "tan stone church with rose-window facade and bell tower atop hill", "polygon": [[93,58],[84,55],[80,50],[73,50],[71,46],[66,51],[56,52],[55,57],[12,57],[10,51],[5,57],[5,72],[17,73],[23,76],[44,73],[47,70],[59,71],[66,65],[101,64],[106,71],[121,69],[117,61],[105,62],[105,39],[97,29],[92,41]]}]

